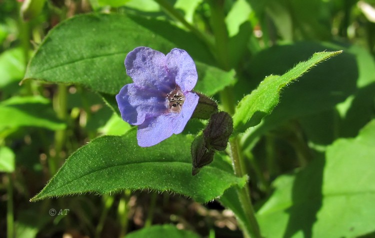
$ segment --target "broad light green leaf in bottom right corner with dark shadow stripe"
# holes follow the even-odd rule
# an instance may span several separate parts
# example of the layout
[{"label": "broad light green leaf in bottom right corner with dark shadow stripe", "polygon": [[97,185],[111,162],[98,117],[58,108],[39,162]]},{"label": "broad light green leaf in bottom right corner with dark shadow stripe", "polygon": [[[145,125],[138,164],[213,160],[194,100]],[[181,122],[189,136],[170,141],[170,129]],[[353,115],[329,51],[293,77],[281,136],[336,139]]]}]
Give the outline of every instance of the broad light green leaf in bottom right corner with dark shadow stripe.
[{"label": "broad light green leaf in bottom right corner with dark shadow stripe", "polygon": [[[375,120],[338,139],[325,160],[280,176],[257,213],[265,237],[359,237],[375,231]],[[293,236],[294,235],[294,236]]]}]

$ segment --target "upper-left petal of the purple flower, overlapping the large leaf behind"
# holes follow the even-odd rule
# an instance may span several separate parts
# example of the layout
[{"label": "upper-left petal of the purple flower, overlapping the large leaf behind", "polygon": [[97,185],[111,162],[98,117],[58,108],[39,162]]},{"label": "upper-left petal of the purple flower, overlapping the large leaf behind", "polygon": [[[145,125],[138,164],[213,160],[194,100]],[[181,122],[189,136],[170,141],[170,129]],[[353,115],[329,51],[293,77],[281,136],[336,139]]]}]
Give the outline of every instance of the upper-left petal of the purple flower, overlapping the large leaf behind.
[{"label": "upper-left petal of the purple flower, overlapping the large leaf behind", "polygon": [[174,79],[168,77],[166,57],[148,47],[136,47],[125,58],[126,73],[135,85],[168,93],[174,88]]}]

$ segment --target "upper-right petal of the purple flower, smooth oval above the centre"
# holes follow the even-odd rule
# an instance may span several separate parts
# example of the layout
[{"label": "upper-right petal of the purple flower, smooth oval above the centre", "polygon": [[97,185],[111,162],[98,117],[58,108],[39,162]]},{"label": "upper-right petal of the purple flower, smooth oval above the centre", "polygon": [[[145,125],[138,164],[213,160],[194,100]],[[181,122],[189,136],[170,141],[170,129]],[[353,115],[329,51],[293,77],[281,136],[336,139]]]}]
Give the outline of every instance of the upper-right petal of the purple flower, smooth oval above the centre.
[{"label": "upper-right petal of the purple flower, smooth oval above the centre", "polygon": [[182,49],[174,48],[166,55],[166,67],[171,78],[182,91],[191,91],[198,79],[195,64],[190,55]]}]

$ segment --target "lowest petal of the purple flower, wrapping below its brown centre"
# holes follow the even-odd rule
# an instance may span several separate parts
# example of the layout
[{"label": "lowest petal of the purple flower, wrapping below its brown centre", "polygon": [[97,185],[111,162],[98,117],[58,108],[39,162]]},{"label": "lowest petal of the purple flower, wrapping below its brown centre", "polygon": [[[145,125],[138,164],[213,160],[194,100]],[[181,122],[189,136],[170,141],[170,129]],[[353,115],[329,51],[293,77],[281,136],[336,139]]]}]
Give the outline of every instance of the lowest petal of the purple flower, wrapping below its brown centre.
[{"label": "lowest petal of the purple flower, wrapping below its brown centre", "polygon": [[143,124],[138,126],[136,134],[138,145],[141,147],[153,146],[173,134],[181,133],[194,112],[198,99],[197,94],[187,92],[180,113],[170,112],[146,119]]}]

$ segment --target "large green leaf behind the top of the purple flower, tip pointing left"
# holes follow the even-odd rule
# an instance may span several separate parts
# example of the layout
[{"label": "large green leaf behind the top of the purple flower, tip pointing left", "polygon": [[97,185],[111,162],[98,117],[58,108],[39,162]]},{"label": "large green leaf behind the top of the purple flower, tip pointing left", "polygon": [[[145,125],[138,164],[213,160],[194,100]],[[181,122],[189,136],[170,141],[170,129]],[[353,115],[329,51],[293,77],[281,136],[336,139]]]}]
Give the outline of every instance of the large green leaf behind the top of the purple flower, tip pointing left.
[{"label": "large green leaf behind the top of the purple flower, tip pointing left", "polygon": [[203,93],[211,95],[233,82],[233,72],[212,66],[212,55],[193,34],[166,21],[120,14],[82,14],[61,22],[40,44],[24,79],[81,84],[114,95],[132,82],[123,62],[137,46],[163,53],[185,49],[196,61],[196,88]]}]

